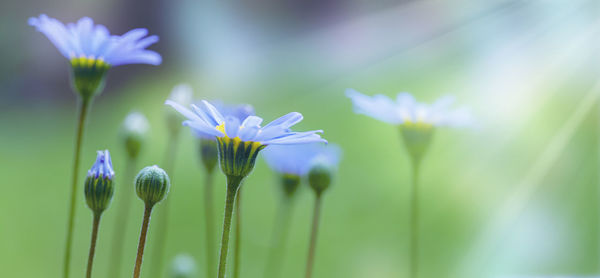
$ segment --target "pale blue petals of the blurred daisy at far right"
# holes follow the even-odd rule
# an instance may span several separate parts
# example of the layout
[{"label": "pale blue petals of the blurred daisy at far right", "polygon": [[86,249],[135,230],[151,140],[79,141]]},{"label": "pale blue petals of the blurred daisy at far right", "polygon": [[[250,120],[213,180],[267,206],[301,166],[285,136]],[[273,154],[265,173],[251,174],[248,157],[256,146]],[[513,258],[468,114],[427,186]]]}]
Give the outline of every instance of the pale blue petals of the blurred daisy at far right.
[{"label": "pale blue petals of the blurred daisy at far right", "polygon": [[432,104],[419,103],[409,93],[399,93],[395,101],[384,95],[366,96],[354,89],[346,90],[346,96],[352,100],[356,113],[390,124],[465,126],[471,122],[465,108],[450,109],[454,103],[451,96],[439,98]]}]

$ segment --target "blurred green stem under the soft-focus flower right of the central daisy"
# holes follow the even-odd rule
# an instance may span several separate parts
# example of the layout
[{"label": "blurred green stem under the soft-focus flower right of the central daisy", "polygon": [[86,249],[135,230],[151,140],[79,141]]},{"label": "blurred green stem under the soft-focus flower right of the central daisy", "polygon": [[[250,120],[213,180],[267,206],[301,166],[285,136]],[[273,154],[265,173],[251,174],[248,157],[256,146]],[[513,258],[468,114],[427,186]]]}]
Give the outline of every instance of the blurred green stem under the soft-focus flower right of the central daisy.
[{"label": "blurred green stem under the soft-focus flower right of the central daisy", "polygon": [[284,197],[277,210],[275,221],[273,221],[271,252],[269,253],[269,259],[265,267],[265,277],[280,277],[284,261],[285,244],[289,233],[291,211],[292,198]]}]

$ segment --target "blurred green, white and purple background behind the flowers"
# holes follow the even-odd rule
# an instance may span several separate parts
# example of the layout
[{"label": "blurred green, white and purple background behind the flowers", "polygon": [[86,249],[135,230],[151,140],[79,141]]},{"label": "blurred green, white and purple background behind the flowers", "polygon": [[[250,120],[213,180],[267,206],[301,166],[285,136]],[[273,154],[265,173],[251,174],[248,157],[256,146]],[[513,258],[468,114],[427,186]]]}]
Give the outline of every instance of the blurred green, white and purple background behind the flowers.
[{"label": "blurred green, white and purple background behind the flowers", "polygon": [[[408,91],[428,102],[451,94],[470,107],[476,124],[439,129],[424,162],[421,277],[600,274],[599,5],[2,1],[0,276],[60,277],[62,267],[76,98],[66,60],[27,26],[27,18],[40,13],[63,22],[90,16],[117,34],[147,27],[161,38],[151,47],[163,55],[161,66],[110,70],[89,117],[81,175],[95,151],[108,148],[117,186],[132,186],[123,180],[118,136],[132,110],[151,123],[139,168],[164,163],[163,102],[181,82],[191,84],[198,99],[250,103],[266,121],[299,111],[305,120],[298,129],[323,129],[344,149],[325,196],[314,277],[408,277],[406,152],[397,128],[355,115],[344,90]],[[204,277],[204,172],[197,140],[187,130],[182,134],[165,257],[169,263],[191,254],[197,277]],[[215,182],[223,185],[215,192],[221,223],[224,179],[218,175]],[[262,277],[279,196],[264,161],[244,188],[242,277]],[[299,193],[282,277],[304,273],[313,195],[306,186]],[[91,229],[83,193],[78,202],[74,277],[83,276]],[[142,214],[142,202],[132,202],[124,277],[133,268]],[[103,218],[96,277],[107,275],[113,213]],[[220,235],[220,225],[215,232]],[[152,232],[147,258],[151,253]]]}]

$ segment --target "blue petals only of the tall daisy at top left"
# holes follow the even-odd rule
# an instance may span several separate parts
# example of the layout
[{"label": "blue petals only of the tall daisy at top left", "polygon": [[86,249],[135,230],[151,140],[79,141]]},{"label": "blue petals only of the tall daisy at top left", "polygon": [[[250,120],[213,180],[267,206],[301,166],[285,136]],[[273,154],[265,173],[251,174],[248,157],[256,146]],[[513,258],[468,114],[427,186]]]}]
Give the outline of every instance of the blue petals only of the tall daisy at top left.
[{"label": "blue petals only of the tall daisy at top left", "polygon": [[89,17],[67,25],[45,14],[29,19],[67,59],[101,61],[108,66],[161,63],[160,54],[146,47],[158,42],[158,36],[148,36],[144,28],[133,29],[121,36],[111,35],[106,27]]}]

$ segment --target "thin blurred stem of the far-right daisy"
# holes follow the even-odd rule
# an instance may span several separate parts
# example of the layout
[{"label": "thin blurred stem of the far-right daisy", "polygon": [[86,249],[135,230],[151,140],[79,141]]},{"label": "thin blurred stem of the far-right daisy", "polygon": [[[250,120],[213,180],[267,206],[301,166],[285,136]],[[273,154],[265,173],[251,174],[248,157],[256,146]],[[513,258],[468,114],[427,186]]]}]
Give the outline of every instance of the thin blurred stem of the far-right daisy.
[{"label": "thin blurred stem of the far-right daisy", "polygon": [[412,160],[412,189],[410,196],[410,278],[419,275],[419,167],[420,159]]}]

